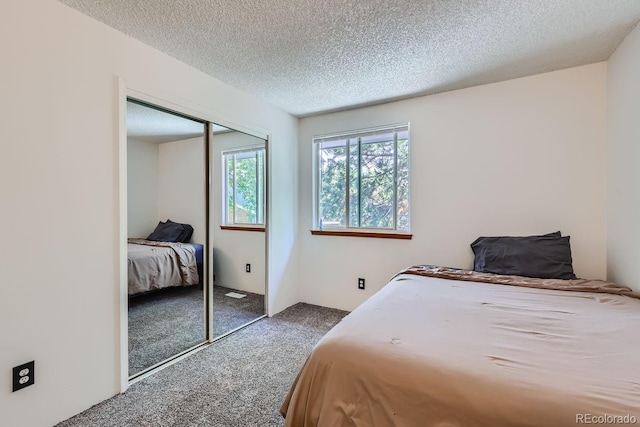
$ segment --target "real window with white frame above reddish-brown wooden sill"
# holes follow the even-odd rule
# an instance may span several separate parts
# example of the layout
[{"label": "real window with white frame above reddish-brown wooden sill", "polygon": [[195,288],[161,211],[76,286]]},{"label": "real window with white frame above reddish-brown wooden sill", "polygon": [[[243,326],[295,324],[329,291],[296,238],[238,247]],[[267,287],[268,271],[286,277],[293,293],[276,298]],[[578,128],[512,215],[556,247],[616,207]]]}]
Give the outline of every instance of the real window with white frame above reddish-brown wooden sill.
[{"label": "real window with white frame above reddish-brown wooden sill", "polygon": [[409,125],[316,137],[315,228],[409,232]]}]

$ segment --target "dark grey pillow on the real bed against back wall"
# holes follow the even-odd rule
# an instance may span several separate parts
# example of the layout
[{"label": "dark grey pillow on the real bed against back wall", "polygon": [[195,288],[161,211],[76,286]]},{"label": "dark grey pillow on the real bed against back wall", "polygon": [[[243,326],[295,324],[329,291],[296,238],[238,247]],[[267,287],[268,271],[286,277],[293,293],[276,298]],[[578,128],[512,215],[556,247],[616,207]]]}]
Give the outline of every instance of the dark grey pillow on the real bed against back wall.
[{"label": "dark grey pillow on the real bed against back wall", "polygon": [[479,237],[471,244],[473,269],[541,279],[575,279],[569,236]]}]

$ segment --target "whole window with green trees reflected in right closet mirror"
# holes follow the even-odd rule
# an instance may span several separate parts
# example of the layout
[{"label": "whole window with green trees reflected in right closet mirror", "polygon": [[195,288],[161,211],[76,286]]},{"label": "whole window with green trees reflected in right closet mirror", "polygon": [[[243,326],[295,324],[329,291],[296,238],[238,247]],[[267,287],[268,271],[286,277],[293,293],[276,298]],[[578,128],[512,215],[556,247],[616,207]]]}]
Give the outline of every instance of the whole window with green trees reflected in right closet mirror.
[{"label": "whole window with green trees reflected in right closet mirror", "polygon": [[222,153],[226,225],[264,225],[264,146]]}]

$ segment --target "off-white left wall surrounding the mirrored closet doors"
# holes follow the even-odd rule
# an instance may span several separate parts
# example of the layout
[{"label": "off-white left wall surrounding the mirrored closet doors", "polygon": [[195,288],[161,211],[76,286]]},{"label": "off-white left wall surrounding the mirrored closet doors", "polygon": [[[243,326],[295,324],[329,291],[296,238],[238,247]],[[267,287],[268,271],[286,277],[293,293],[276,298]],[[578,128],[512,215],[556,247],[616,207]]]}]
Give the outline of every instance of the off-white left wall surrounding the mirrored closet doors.
[{"label": "off-white left wall surrounding the mirrored closet doors", "polygon": [[[271,132],[269,308],[297,302],[297,119],[55,0],[0,2],[0,47],[2,425],[53,425],[119,391],[117,76]],[[36,384],[11,393],[30,360]]]}]

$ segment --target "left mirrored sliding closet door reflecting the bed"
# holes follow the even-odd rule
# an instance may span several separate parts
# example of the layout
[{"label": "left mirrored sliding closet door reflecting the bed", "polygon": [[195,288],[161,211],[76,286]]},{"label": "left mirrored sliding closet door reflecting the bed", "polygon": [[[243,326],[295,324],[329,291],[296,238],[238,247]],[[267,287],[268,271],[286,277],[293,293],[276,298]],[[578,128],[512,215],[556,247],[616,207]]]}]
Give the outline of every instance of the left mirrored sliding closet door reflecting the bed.
[{"label": "left mirrored sliding closet door reflecting the bed", "polygon": [[128,99],[130,377],[207,339],[206,129]]}]

